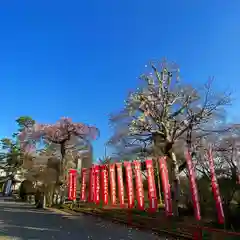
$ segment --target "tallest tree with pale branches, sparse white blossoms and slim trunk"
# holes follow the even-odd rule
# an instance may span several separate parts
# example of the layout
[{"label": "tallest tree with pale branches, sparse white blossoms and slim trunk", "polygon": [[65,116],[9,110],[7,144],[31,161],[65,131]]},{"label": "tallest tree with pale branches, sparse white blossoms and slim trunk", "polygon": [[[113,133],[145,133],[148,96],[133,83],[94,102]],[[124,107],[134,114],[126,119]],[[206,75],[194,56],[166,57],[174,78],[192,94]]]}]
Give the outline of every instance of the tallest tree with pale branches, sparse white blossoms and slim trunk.
[{"label": "tallest tree with pale branches, sparse white blossoms and slim trunk", "polygon": [[[129,94],[120,113],[110,117],[115,131],[109,143],[115,146],[123,141],[122,138],[130,145],[149,141],[154,157],[169,157],[177,215],[179,164],[174,145],[179,141],[185,144],[193,132],[201,136],[213,130],[219,131],[224,107],[231,102],[230,94],[214,93],[212,79],[198,89],[181,83],[178,66],[167,61],[150,63],[150,71],[140,79],[143,86]],[[208,128],[210,122],[214,122],[211,130]]]}]

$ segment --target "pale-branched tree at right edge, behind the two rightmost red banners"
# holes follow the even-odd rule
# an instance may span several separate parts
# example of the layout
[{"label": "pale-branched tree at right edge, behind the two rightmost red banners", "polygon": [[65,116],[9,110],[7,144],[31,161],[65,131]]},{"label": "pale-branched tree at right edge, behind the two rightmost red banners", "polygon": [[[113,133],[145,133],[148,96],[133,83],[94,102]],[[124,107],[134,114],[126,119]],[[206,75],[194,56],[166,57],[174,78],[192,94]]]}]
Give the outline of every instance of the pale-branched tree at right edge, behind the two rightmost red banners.
[{"label": "pale-branched tree at right edge, behind the two rightmost red banners", "polygon": [[[237,197],[240,193],[240,185],[238,181],[239,137],[238,125],[234,125],[232,126],[231,131],[216,133],[214,135],[204,137],[195,149],[195,167],[198,173],[200,191],[201,187],[203,187],[205,195],[204,205],[205,207],[209,207],[206,204],[212,198],[211,191],[207,191],[207,189],[210,189],[211,186],[211,174],[206,151],[209,144],[212,146],[214,168],[223,201],[225,224],[228,227],[233,227],[231,224],[233,223],[232,216],[234,215],[233,213],[236,209],[236,201],[240,201],[239,197]],[[203,182],[204,186],[201,186]]]}]

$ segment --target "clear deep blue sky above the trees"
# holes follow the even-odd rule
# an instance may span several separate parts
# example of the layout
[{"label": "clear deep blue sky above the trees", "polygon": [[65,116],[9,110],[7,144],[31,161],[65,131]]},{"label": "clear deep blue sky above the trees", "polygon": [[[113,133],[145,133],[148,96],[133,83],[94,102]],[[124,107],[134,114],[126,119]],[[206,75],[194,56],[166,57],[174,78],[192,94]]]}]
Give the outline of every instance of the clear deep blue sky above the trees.
[{"label": "clear deep blue sky above the trees", "polygon": [[167,57],[183,79],[231,87],[238,120],[240,2],[223,1],[1,1],[0,135],[30,115],[53,123],[61,116],[94,124],[104,154],[108,114],[123,106],[151,59]]}]

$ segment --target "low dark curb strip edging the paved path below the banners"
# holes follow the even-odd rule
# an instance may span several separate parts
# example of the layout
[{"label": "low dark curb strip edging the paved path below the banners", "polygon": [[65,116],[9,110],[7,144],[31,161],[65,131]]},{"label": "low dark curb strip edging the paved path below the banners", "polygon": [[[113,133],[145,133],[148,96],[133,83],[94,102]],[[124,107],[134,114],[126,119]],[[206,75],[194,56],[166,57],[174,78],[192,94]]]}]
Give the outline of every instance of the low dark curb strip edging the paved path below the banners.
[{"label": "low dark curb strip edging the paved path below the banners", "polygon": [[[60,210],[61,211],[61,210]],[[142,224],[137,224],[137,223],[129,223],[123,219],[118,219],[118,218],[110,218],[110,217],[106,217],[102,214],[99,214],[99,213],[94,213],[94,212],[87,212],[87,211],[74,211],[74,210],[69,210],[69,209],[64,209],[63,212],[65,213],[68,213],[69,215],[77,215],[77,213],[82,213],[82,214],[85,214],[85,215],[90,215],[90,216],[95,216],[95,217],[100,217],[106,221],[111,221],[111,222],[114,222],[114,223],[120,223],[120,224],[124,224],[124,225],[127,225],[129,227],[134,227],[134,228],[138,228],[138,229],[141,229],[141,230],[145,230],[145,231],[152,231],[154,232],[155,234],[157,235],[167,235],[167,236],[171,236],[171,237],[177,237],[178,239],[192,239],[192,237],[190,236],[186,236],[186,235],[183,235],[183,234],[179,234],[179,233],[174,233],[174,232],[169,232],[169,231],[166,231],[166,230],[159,230],[159,229],[156,229],[156,228],[148,228],[148,227],[145,227],[143,226]]]}]

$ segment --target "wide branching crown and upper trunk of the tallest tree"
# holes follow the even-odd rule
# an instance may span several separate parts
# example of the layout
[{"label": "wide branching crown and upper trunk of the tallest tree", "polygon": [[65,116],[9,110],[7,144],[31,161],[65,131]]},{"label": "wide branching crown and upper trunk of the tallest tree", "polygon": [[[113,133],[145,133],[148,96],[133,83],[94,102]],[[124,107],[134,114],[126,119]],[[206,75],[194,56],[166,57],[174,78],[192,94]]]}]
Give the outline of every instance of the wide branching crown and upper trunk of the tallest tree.
[{"label": "wide branching crown and upper trunk of the tallest tree", "polygon": [[151,62],[140,80],[122,110],[111,114],[113,135],[108,144],[118,159],[167,156],[177,202],[186,147],[196,155],[208,147],[203,148],[204,141],[212,144],[217,136],[238,132],[238,124],[226,122],[231,93],[215,91],[213,78],[201,87],[182,82],[178,66],[166,60]]}]

